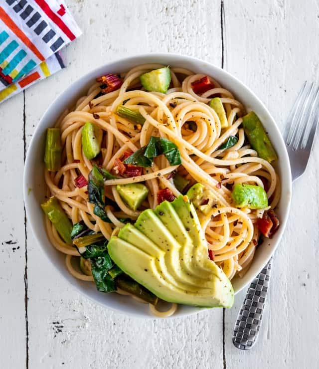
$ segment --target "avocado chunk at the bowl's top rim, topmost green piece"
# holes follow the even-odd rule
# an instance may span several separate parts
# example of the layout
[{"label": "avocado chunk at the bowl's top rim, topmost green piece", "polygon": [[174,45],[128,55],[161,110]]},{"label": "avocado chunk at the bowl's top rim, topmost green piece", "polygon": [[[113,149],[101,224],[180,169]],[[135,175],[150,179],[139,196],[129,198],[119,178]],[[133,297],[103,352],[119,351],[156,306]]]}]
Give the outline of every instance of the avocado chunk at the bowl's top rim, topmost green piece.
[{"label": "avocado chunk at the bowl's top rim, topmost green piece", "polygon": [[166,93],[170,84],[170,70],[168,67],[152,70],[140,76],[142,86],[147,91]]}]

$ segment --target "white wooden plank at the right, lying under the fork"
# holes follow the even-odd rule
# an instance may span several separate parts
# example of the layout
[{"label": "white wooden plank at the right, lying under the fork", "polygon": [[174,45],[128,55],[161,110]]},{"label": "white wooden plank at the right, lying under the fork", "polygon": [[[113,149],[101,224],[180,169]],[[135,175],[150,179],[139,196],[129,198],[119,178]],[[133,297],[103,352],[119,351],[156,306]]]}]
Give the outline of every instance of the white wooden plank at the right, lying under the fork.
[{"label": "white wooden plank at the right, lying under the fork", "polygon": [[[226,68],[265,102],[282,129],[305,79],[318,76],[318,4],[296,1],[225,3]],[[316,144],[317,143],[317,144]],[[290,219],[276,252],[259,342],[250,352],[231,343],[245,292],[226,312],[227,368],[312,368],[318,353],[318,139],[305,176],[296,182]],[[316,224],[316,226],[314,226]]]}]

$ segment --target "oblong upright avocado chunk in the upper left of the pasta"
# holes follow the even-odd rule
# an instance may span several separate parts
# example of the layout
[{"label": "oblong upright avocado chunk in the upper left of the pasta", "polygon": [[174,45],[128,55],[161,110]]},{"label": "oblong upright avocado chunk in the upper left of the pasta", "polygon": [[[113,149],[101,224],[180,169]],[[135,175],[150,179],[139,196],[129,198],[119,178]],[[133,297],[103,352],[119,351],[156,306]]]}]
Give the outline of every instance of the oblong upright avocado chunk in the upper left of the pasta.
[{"label": "oblong upright avocado chunk in the upper left of the pasta", "polygon": [[97,125],[86,122],[82,130],[82,148],[87,159],[95,158],[101,151],[103,132]]}]

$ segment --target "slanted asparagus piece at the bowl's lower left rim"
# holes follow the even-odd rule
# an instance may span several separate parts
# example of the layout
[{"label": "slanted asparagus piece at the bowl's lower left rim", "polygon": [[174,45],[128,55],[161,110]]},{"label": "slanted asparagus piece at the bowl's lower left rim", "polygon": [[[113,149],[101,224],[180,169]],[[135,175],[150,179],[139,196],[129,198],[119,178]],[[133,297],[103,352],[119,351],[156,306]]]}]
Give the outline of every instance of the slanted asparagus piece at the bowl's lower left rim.
[{"label": "slanted asparagus piece at the bowl's lower left rim", "polygon": [[54,196],[41,204],[42,210],[51,220],[64,242],[71,244],[72,223]]}]

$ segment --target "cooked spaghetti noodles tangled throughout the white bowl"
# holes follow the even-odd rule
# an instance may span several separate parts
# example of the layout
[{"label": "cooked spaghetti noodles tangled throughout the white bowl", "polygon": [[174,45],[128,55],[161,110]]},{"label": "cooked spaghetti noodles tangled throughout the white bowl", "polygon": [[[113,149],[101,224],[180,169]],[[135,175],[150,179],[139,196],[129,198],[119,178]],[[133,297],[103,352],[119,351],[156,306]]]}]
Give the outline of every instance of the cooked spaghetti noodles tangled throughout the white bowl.
[{"label": "cooked spaghetti noodles tangled throughout the white bowl", "polygon": [[[258,244],[260,231],[257,219],[279,201],[278,176],[272,165],[259,158],[257,152],[247,145],[242,128],[245,107],[230,91],[209,77],[213,88],[196,94],[192,84],[205,75],[178,67],[170,68],[171,85],[166,94],[144,91],[140,75],[161,67],[160,64],[136,66],[121,74],[123,84],[119,89],[104,94],[101,94],[101,89],[105,87],[103,82],[96,82],[71,110],[61,115],[55,127],[60,128],[61,132],[62,167],[56,172],[45,171],[48,195],[54,195],[60,201],[73,224],[82,220],[89,229],[102,232],[109,240],[124,226],[120,218],[134,221],[141,213],[140,209],[128,207],[119,196],[116,185],[144,182],[149,193],[142,207],[155,208],[160,189],[168,188],[173,195],[180,195],[171,178],[177,172],[191,184],[203,184],[222,205],[206,215],[201,214],[201,226],[211,250],[210,255],[226,276],[229,279],[235,275],[242,277],[253,261]],[[207,105],[215,96],[220,97],[226,112],[228,127],[225,129],[221,128],[215,110]],[[145,123],[137,125],[117,115],[117,107],[123,104],[139,111]],[[87,121],[103,130],[101,154],[96,160],[88,160],[83,154],[81,136]],[[189,122],[195,129],[189,129]],[[182,164],[170,166],[163,156],[157,157],[152,167],[143,168],[141,175],[106,180],[105,195],[115,201],[120,210],[107,206],[105,210],[111,222],[104,222],[94,214],[94,206],[88,202],[87,185],[79,188],[75,180],[80,175],[88,180],[97,160],[107,171],[116,172],[117,159],[129,150],[135,152],[147,145],[151,136],[167,138],[175,143]],[[221,149],[221,145],[231,136],[236,136],[237,142],[228,149]],[[234,207],[230,190],[233,184],[255,184],[267,189],[270,206],[256,210]],[[52,245],[66,255],[68,271],[75,278],[93,281],[92,276],[84,275],[72,266],[71,258],[79,256],[77,250],[63,242],[48,219],[45,224]],[[176,310],[175,304],[168,312],[159,312],[156,307],[150,306],[152,313],[158,316],[169,316]]]}]

